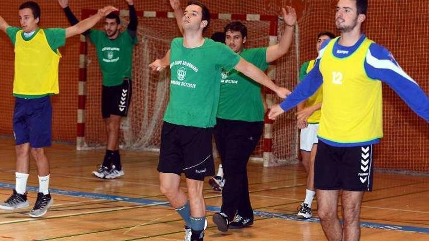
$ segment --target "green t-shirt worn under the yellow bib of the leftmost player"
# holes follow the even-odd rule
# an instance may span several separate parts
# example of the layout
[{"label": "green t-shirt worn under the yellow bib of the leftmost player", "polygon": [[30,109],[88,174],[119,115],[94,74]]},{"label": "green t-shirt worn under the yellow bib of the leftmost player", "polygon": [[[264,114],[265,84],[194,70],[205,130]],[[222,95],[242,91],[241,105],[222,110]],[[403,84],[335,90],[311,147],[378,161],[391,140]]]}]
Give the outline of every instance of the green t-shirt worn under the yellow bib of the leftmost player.
[{"label": "green t-shirt worn under the yellow bib of the leftmost player", "polygon": [[[14,46],[15,46],[15,42],[17,40],[17,38],[16,38],[17,33],[21,29],[22,28],[17,28],[17,27],[12,27],[12,26],[10,26],[6,29],[6,33],[9,36],[9,38],[12,41],[12,44]],[[38,28],[36,30],[36,32],[30,37],[25,37],[24,33],[22,33],[21,37],[25,41],[30,41],[33,37],[36,36],[36,34],[39,32],[39,30],[40,30],[40,28]],[[58,48],[65,45],[65,29],[63,29],[63,28],[46,28],[46,29],[43,29],[43,31],[45,32],[46,40],[48,41],[49,47],[51,47],[52,51],[57,53]],[[41,97],[44,97],[46,95],[51,95],[51,94],[29,95],[29,94],[15,94],[14,93],[13,95],[15,97],[19,97],[19,98],[36,99],[36,98],[41,98]]]}]

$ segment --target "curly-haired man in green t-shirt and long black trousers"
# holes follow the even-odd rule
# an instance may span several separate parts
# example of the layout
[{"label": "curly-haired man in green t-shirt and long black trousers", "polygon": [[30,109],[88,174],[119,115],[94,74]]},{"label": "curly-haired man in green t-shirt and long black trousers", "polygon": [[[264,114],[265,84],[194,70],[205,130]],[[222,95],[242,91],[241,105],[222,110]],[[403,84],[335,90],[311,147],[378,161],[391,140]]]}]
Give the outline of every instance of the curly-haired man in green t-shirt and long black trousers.
[{"label": "curly-haired man in green t-shirt and long black trousers", "polygon": [[[183,15],[180,2],[170,0],[170,4],[175,12],[179,29],[183,32],[179,24],[179,19]],[[265,71],[268,63],[287,53],[292,42],[293,26],[296,22],[295,10],[288,7],[288,11],[282,9],[282,13],[286,26],[278,44],[265,48],[246,49],[244,44],[247,40],[247,28],[238,21],[225,26],[225,44],[243,59]],[[228,227],[242,228],[253,224],[247,162],[262,135],[264,104],[260,84],[239,70],[224,69],[220,82],[214,133],[222,164],[219,165],[217,175],[210,178],[209,184],[215,190],[222,190],[221,211],[215,213],[213,220],[220,231],[226,232]],[[223,173],[225,178],[222,177]],[[225,189],[222,189],[223,187]]]}]

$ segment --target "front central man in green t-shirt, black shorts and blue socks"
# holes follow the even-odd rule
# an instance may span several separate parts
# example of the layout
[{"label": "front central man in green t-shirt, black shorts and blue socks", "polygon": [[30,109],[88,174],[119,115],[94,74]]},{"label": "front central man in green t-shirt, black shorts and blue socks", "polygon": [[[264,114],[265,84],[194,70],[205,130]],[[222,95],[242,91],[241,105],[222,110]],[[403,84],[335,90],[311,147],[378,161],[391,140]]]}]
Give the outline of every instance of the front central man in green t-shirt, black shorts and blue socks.
[{"label": "front central man in green t-shirt, black shorts and blue socks", "polygon": [[[188,2],[181,24],[183,37],[173,39],[168,54],[150,64],[158,71],[170,65],[170,101],[157,169],[161,192],[186,222],[185,240],[191,241],[203,240],[207,223],[202,191],[204,178],[214,174],[212,134],[222,68],[235,68],[282,98],[290,93],[224,44],[204,38],[209,24],[207,7],[198,1]],[[180,188],[182,172],[188,195]]]}]

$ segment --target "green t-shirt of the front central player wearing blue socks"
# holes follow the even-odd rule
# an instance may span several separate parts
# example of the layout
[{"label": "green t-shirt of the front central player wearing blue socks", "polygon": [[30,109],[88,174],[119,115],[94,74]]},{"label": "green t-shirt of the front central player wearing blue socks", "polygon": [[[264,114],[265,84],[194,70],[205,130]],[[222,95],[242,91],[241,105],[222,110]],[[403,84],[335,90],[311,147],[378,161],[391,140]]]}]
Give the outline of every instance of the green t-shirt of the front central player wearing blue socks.
[{"label": "green t-shirt of the front central player wearing blue socks", "polygon": [[170,101],[164,121],[207,128],[216,124],[222,68],[231,70],[240,56],[223,43],[205,38],[197,48],[183,46],[183,37],[171,42]]}]

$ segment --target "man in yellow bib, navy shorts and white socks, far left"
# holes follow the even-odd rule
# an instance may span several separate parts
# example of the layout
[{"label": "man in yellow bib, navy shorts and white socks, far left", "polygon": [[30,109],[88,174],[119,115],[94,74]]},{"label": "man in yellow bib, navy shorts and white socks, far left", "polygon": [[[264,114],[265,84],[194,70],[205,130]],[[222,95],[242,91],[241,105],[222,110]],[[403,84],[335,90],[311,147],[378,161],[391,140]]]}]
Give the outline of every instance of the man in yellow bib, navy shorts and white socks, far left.
[{"label": "man in yellow bib, navy shorts and white socks, far left", "polygon": [[9,26],[0,17],[0,29],[9,36],[15,48],[13,131],[17,156],[15,189],[0,204],[1,209],[14,210],[29,205],[26,185],[30,152],[36,160],[39,175],[39,192],[30,216],[41,217],[52,205],[54,200],[49,193],[49,160],[44,148],[51,146],[52,107],[49,96],[59,93],[58,65],[61,55],[58,48],[65,45],[67,37],[83,33],[114,10],[117,9],[105,7],[98,10],[98,14],[66,29],[39,28],[40,7],[34,1],[20,5],[21,28]]}]

